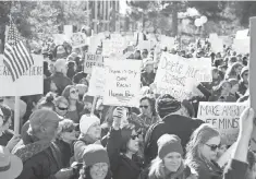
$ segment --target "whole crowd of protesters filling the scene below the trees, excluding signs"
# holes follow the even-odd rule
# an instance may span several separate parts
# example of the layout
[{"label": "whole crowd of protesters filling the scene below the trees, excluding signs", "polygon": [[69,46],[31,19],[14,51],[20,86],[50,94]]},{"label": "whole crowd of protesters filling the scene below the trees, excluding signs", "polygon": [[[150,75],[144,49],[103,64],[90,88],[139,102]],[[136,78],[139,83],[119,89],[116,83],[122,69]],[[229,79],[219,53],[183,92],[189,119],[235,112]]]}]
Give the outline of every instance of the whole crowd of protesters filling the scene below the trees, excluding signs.
[{"label": "whole crowd of protesters filling the scene below the trees, excluding signs", "polygon": [[90,74],[83,71],[82,50],[49,40],[41,49],[44,94],[20,100],[21,135],[13,133],[14,97],[1,98],[0,178],[255,179],[256,158],[248,150],[254,110],[241,115],[224,167],[217,162],[229,146],[221,144],[219,131],[196,119],[199,102],[243,103],[249,97],[248,55],[210,49],[207,41],[185,50],[161,49],[211,58],[212,82],[197,84],[203,95],[185,100],[156,94],[159,57],[155,49],[135,50],[129,58],[143,67],[142,98],[134,108],[106,106],[102,98],[87,95]]}]

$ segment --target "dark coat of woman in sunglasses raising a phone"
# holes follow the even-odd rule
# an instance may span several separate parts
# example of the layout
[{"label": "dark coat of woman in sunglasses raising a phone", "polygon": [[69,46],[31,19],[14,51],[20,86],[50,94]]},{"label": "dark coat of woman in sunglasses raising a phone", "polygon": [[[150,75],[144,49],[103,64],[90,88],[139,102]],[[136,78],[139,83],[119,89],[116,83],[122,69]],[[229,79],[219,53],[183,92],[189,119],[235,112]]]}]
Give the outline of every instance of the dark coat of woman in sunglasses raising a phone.
[{"label": "dark coat of woman in sunglasses raising a phone", "polygon": [[143,169],[143,160],[137,155],[133,155],[132,159],[130,159],[124,154],[121,154],[121,130],[115,131],[111,129],[107,151],[113,179],[137,179]]}]

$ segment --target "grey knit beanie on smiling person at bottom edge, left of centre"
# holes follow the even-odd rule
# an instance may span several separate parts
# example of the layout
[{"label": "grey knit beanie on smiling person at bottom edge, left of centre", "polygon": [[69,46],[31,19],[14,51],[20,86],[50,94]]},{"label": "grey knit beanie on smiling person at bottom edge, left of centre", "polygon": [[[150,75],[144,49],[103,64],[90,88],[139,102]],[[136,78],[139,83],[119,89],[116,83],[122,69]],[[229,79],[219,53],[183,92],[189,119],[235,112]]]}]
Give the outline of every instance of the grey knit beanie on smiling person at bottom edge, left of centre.
[{"label": "grey knit beanie on smiling person at bottom edge, left of centre", "polygon": [[109,156],[102,145],[89,144],[83,153],[83,160],[86,166],[93,166],[98,163],[107,163],[109,165]]}]

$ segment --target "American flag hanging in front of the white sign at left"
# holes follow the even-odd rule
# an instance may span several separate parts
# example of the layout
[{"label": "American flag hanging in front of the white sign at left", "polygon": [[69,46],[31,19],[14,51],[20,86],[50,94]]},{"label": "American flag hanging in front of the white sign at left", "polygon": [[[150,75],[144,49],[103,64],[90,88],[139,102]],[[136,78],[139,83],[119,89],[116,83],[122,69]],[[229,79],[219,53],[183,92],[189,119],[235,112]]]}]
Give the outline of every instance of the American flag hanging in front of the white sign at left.
[{"label": "American flag hanging in front of the white sign at left", "polygon": [[13,81],[22,76],[34,64],[32,55],[24,46],[22,37],[12,20],[4,46],[3,63],[10,71]]}]

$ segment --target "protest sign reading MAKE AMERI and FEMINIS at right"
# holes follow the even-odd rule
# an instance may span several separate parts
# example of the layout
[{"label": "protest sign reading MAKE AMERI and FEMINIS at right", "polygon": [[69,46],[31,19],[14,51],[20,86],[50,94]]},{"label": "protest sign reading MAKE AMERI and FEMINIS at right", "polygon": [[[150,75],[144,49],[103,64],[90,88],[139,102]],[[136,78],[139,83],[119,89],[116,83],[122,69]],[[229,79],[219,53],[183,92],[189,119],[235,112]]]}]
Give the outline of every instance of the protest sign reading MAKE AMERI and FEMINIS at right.
[{"label": "protest sign reading MAKE AMERI and FEMINIS at right", "polygon": [[200,102],[197,118],[212,124],[220,132],[223,144],[231,145],[236,141],[240,115],[246,107],[243,103]]}]

